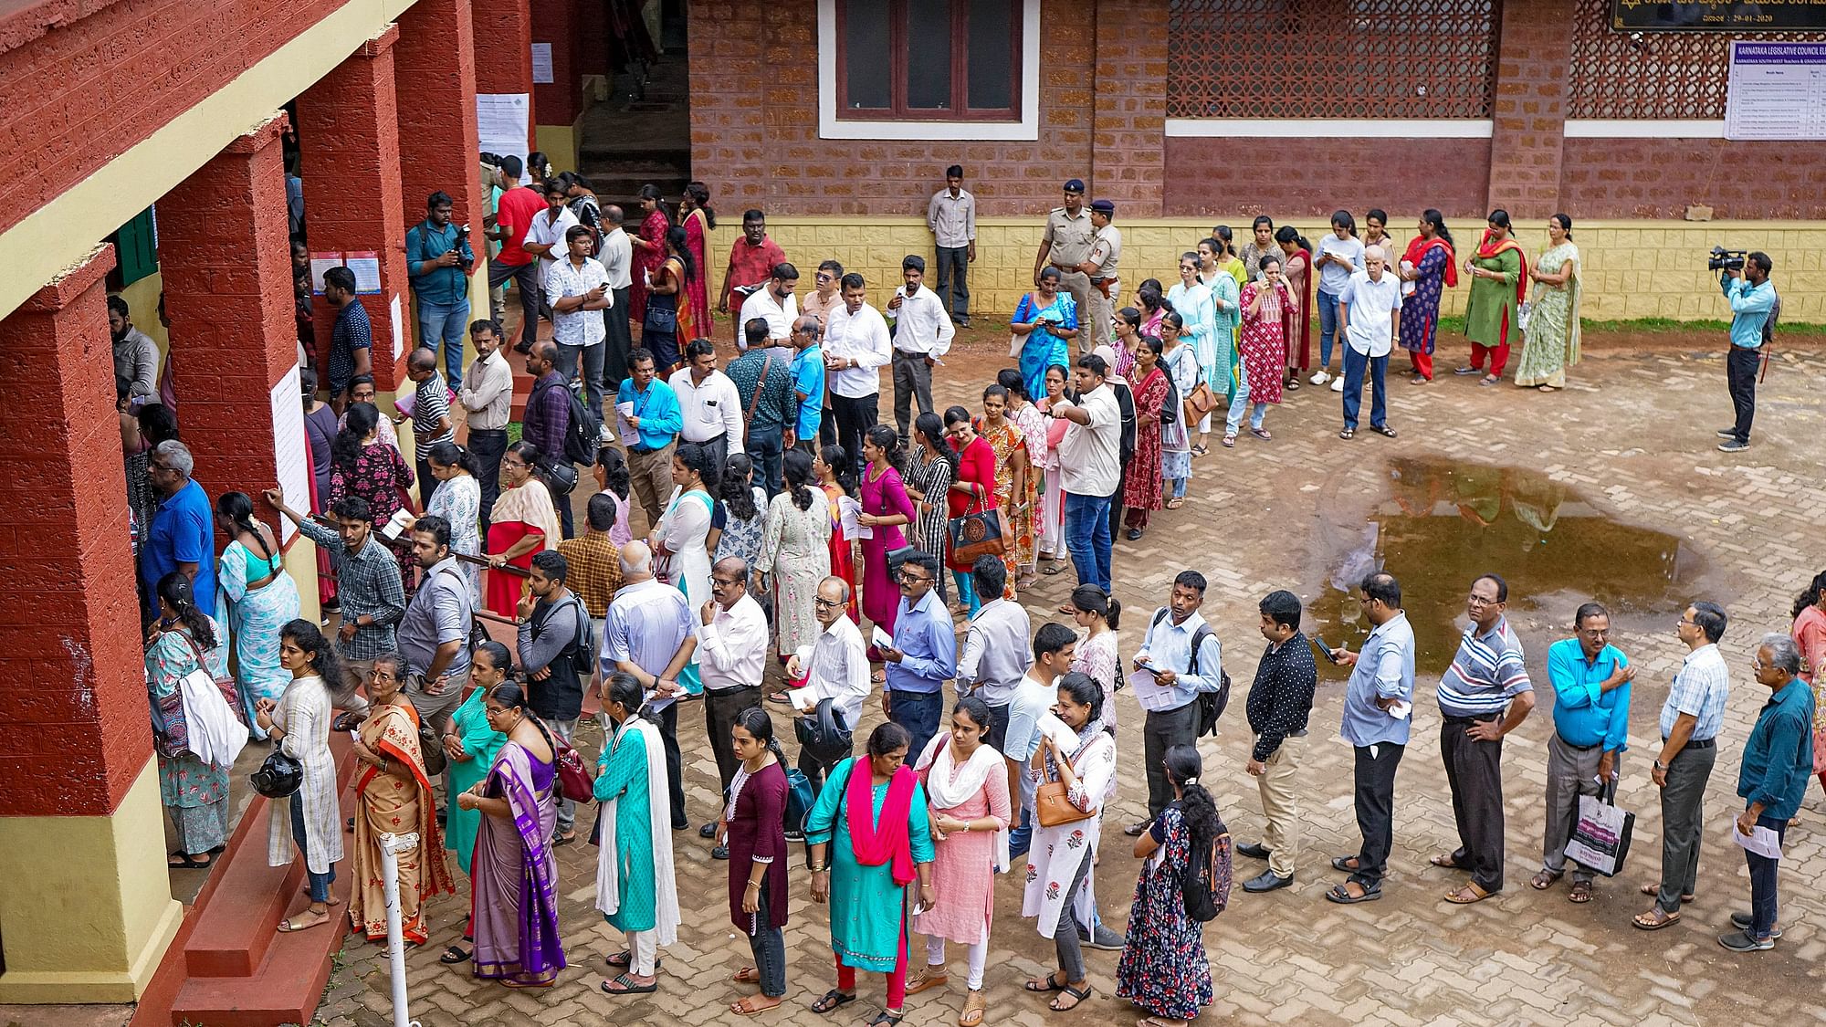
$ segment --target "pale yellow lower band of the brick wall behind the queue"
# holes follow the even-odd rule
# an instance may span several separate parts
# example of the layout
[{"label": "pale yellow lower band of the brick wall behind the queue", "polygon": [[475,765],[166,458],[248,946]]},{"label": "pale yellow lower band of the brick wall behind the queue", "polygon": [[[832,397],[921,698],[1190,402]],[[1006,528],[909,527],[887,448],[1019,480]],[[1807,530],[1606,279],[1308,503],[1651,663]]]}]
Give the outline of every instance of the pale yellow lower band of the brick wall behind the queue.
[{"label": "pale yellow lower band of the brick wall behind the queue", "polygon": [[[1271,214],[1273,216],[1273,214]],[[1395,216],[1406,241],[1406,228],[1417,217]],[[1134,300],[1143,278],[1165,285],[1178,281],[1180,254],[1192,249],[1212,225],[1231,225],[1238,241],[1247,238],[1253,217],[1229,219],[1149,219],[1118,221],[1123,230],[1123,300]],[[1276,217],[1276,223],[1280,219]],[[1317,243],[1329,227],[1295,225]],[[721,287],[729,247],[740,225],[723,221],[710,239],[712,296]],[[1452,225],[1461,256],[1475,243],[1481,225]],[[800,291],[811,289],[813,269],[822,259],[838,259],[845,270],[860,270],[869,280],[876,302],[900,281],[900,259],[920,254],[933,259],[931,234],[920,217],[780,217],[769,216],[767,232],[800,269]],[[977,221],[977,263],[970,269],[970,307],[973,314],[1006,318],[1032,285],[1034,254],[1039,250],[1041,219],[984,217]],[[1674,318],[1729,320],[1716,276],[1705,270],[1705,254],[1715,245],[1764,250],[1775,261],[1775,287],[1782,294],[1782,320],[1788,323],[1826,323],[1826,223],[1821,221],[1579,221],[1574,241],[1585,270],[1587,320]],[[1517,232],[1530,258],[1547,249],[1547,227]],[[928,285],[937,272],[928,270]],[[1446,292],[1444,312],[1464,309],[1468,289]]]}]

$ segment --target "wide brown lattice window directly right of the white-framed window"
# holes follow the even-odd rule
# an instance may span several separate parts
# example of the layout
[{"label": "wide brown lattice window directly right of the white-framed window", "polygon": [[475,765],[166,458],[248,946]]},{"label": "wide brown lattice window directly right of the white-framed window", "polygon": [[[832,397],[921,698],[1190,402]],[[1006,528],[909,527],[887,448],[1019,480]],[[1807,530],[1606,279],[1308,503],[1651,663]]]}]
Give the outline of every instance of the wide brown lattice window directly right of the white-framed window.
[{"label": "wide brown lattice window directly right of the white-framed window", "polygon": [[1169,0],[1167,11],[1167,117],[1490,117],[1495,0]]}]

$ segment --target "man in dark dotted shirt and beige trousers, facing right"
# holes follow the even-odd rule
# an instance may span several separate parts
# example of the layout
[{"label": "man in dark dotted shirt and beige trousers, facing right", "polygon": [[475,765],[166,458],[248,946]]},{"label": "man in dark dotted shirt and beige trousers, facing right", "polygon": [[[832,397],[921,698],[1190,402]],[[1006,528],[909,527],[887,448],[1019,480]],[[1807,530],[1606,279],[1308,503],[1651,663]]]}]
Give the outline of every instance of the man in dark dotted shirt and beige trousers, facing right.
[{"label": "man in dark dotted shirt and beige trousers, facing right", "polygon": [[1293,884],[1293,861],[1300,852],[1300,800],[1293,791],[1293,775],[1306,753],[1306,720],[1313,713],[1313,689],[1318,687],[1318,665],[1300,632],[1300,598],[1287,590],[1269,592],[1260,610],[1267,649],[1256,663],[1256,680],[1249,685],[1247,713],[1254,749],[1247,769],[1262,791],[1267,826],[1260,842],[1240,844],[1236,852],[1265,859],[1267,870],[1244,881],[1244,892],[1273,892]]}]

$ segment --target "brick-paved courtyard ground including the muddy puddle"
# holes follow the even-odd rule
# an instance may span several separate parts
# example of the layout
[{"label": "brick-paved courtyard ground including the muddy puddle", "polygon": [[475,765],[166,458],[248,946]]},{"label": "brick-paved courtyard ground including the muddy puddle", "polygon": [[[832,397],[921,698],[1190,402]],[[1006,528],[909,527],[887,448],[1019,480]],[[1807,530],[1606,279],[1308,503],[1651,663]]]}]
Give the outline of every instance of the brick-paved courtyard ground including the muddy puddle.
[{"label": "brick-paved courtyard ground including the muddy puddle", "polygon": [[[940,402],[977,406],[981,384],[1001,365],[1001,342],[988,331],[939,375]],[[1463,340],[1439,356],[1444,371]],[[1249,733],[1242,713],[1262,638],[1256,601],[1293,588],[1317,610],[1329,641],[1360,641],[1353,605],[1331,581],[1349,581],[1373,561],[1408,581],[1422,672],[1415,735],[1397,780],[1395,852],[1380,903],[1337,906],[1322,892],[1338,879],[1335,853],[1357,850],[1349,800],[1351,749],[1337,738],[1342,676],[1326,669],[1313,713],[1313,738],[1300,769],[1302,848],[1296,884],[1267,895],[1240,888],[1229,910],[1205,930],[1216,1001],[1200,1018],[1214,1023],[1821,1023],[1826,1022],[1826,804],[1808,793],[1800,824],[1788,835],[1782,866],[1786,937],[1773,952],[1733,956],[1715,943],[1733,910],[1747,908],[1742,853],[1726,841],[1742,740],[1762,705],[1749,678],[1749,654],[1764,630],[1786,630],[1793,594],[1826,565],[1826,503],[1821,493],[1821,439],[1826,415],[1826,353],[1788,353],[1769,371],[1758,406],[1755,446],[1727,457],[1713,450],[1713,429],[1727,424],[1722,340],[1705,353],[1594,353],[1558,395],[1508,384],[1477,387],[1450,373],[1432,386],[1390,382],[1390,422],[1401,437],[1362,431],[1337,439],[1338,397],[1306,386],[1269,413],[1273,442],[1244,435],[1236,450],[1216,448],[1194,461],[1191,501],[1156,515],[1139,543],[1116,546],[1116,594],[1128,607],[1123,652],[1138,649],[1149,612],[1165,599],[1172,576],[1196,568],[1211,579],[1203,612],[1223,641],[1236,698],[1218,738],[1205,738],[1203,782],[1238,841],[1258,837],[1254,782],[1244,773]],[[1404,360],[1397,355],[1397,365]],[[886,409],[884,402],[884,409]],[[1366,411],[1368,415],[1368,411]],[[1393,464],[1395,459],[1402,464]],[[1508,470],[1505,470],[1508,468]],[[1539,471],[1539,473],[1527,473]],[[1399,475],[1399,477],[1397,477]],[[1481,570],[1512,583],[1510,618],[1521,632],[1528,671],[1543,705],[1506,744],[1506,888],[1474,906],[1441,901],[1459,873],[1428,868],[1428,855],[1455,844],[1452,808],[1439,766],[1439,715],[1432,700],[1437,669],[1450,660],[1453,612],[1463,623],[1463,590]],[[1041,577],[1024,596],[1035,623],[1066,598],[1070,576]],[[1567,903],[1565,884],[1528,888],[1539,868],[1541,795],[1550,702],[1545,702],[1547,645],[1567,634],[1572,609],[1590,594],[1620,609],[1618,638],[1636,678],[1632,751],[1623,762],[1618,802],[1638,813],[1634,850],[1623,875],[1600,879],[1596,899]],[[1656,789],[1647,777],[1656,742],[1654,715],[1682,649],[1673,621],[1687,598],[1726,605],[1724,651],[1733,694],[1720,760],[1707,795],[1707,831],[1698,899],[1684,923],[1656,934],[1631,928],[1647,908],[1636,884],[1660,859]],[[1333,638],[1337,632],[1337,638]],[[1139,766],[1139,709],[1116,700],[1121,788],[1105,815],[1097,892],[1103,916],[1121,926],[1136,861],[1121,826],[1145,810]],[[873,727],[876,713],[864,727]],[[785,727],[785,718],[776,713]],[[696,711],[681,716],[692,822],[714,815],[716,766]],[[787,731],[791,738],[791,731]],[[599,733],[579,747],[593,753]],[[789,740],[789,749],[791,749]],[[455,941],[467,892],[431,906],[433,945],[407,956],[413,1018],[429,1025],[729,1023],[727,1003],[749,989],[729,976],[749,963],[747,945],[727,916],[725,863],[696,831],[676,835],[685,925],[668,947],[659,992],[610,998],[597,990],[603,956],[621,936],[593,912],[595,848],[559,850],[561,925],[570,970],[557,987],[513,992],[477,983],[436,961]],[[1256,864],[1238,859],[1238,883]],[[833,983],[824,908],[809,899],[809,875],[792,870],[787,928],[789,994],[760,1023],[818,1023],[805,1007]],[[915,959],[922,945],[915,939]],[[953,947],[948,989],[908,1000],[908,1023],[955,1023],[962,1009],[962,954]],[[1128,1023],[1141,1016],[1112,998],[1114,952],[1088,952],[1096,998],[1054,1014],[1021,990],[1052,967],[1052,945],[1019,917],[1019,877],[999,883],[986,990],[988,1023]],[[864,976],[856,1005],[833,1023],[866,1023],[880,1009],[882,978]],[[387,961],[380,947],[351,939],[318,1011],[336,1027],[391,1023]]]}]

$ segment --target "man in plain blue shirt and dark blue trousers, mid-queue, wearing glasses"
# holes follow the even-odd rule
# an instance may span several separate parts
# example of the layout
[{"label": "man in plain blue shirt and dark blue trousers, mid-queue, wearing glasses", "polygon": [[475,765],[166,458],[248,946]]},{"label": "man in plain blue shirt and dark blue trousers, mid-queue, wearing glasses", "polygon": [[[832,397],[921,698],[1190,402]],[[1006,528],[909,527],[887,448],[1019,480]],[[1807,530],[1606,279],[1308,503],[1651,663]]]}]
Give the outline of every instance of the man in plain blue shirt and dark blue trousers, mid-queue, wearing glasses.
[{"label": "man in plain blue shirt and dark blue trousers, mid-queue, wearing glasses", "polygon": [[900,610],[895,614],[895,643],[882,649],[887,689],[882,713],[913,735],[908,755],[918,760],[939,733],[944,715],[944,683],[957,674],[957,632],[951,610],[933,592],[939,583],[939,557],[913,552],[900,565]]}]

